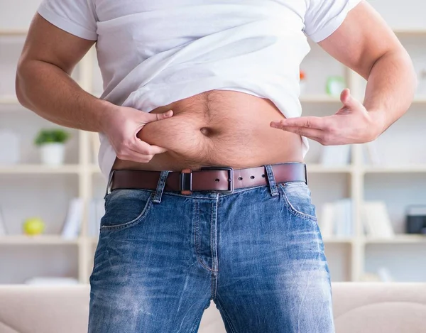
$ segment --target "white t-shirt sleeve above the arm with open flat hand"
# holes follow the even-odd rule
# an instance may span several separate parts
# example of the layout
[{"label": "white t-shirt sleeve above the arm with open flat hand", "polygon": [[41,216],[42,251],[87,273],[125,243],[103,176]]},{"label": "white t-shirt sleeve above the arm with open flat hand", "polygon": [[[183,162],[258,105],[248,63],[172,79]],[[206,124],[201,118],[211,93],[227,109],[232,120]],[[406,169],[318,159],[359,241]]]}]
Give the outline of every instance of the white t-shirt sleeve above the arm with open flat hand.
[{"label": "white t-shirt sleeve above the arm with open flat hand", "polygon": [[315,43],[329,37],[342,25],[361,0],[307,0],[305,33]]}]

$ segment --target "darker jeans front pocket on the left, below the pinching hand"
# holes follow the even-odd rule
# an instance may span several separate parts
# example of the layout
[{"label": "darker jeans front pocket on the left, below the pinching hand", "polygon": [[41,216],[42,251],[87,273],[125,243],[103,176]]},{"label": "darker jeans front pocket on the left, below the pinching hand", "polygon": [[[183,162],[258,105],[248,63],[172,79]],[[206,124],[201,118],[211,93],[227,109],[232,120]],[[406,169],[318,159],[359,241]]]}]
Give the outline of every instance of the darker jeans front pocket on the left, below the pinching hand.
[{"label": "darker jeans front pocket on the left, below the pinching hand", "polygon": [[114,190],[105,197],[102,230],[119,230],[141,223],[151,211],[154,192],[148,190]]}]

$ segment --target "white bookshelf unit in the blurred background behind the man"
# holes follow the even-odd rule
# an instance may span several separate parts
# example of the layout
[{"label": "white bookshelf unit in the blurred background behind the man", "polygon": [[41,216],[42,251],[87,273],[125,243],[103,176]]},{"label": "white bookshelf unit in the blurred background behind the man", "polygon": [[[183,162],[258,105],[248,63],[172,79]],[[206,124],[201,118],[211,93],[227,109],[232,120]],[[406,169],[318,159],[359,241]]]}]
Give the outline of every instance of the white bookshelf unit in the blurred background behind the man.
[{"label": "white bookshelf unit in the blurred background behind the man", "polygon": [[[0,0],[0,5],[4,0]],[[413,0],[411,0],[413,1]],[[35,1],[37,2],[37,1]],[[381,11],[388,10],[388,1],[380,0],[372,2]],[[393,5],[399,6],[399,5]],[[421,9],[422,3],[417,1],[417,6]],[[396,8],[396,7],[395,7]],[[399,11],[399,8],[393,9]],[[412,9],[411,10],[415,10]],[[426,40],[426,26],[413,26],[410,22],[408,26],[401,26],[402,23],[395,21],[398,17],[394,14],[385,16],[393,23],[393,28],[398,37],[405,40]],[[27,16],[26,16],[27,17]],[[0,15],[1,18],[1,15]],[[0,20],[1,21],[1,20]],[[6,20],[6,23],[8,21]],[[29,21],[23,23],[28,26]],[[7,45],[11,46],[11,53],[19,48],[16,45],[23,43],[26,36],[26,28],[16,26],[9,21],[10,28],[0,25],[0,50],[6,50]],[[415,64],[426,65],[419,60],[418,54],[426,52],[426,43],[418,43],[413,48],[412,43],[408,51],[414,52]],[[300,102],[304,109],[304,115],[328,115],[332,114],[340,107],[339,97],[329,97],[324,94],[324,80],[327,75],[343,75],[346,78],[346,85],[351,89],[355,97],[362,99],[364,96],[364,80],[356,73],[348,70],[344,65],[333,60],[324,53],[319,46],[312,44],[312,52],[302,63],[302,69],[307,72],[307,80],[315,77],[307,86],[306,94],[302,94]],[[95,96],[99,96],[102,91],[102,82],[97,69],[94,57],[94,48],[84,57],[73,77],[77,82]],[[4,53],[4,51],[3,51]],[[0,70],[3,61],[0,51]],[[6,57],[10,67],[13,64],[11,55]],[[321,66],[318,66],[321,64]],[[14,69],[6,68],[6,77]],[[8,74],[9,73],[9,74]],[[3,75],[2,75],[3,76]],[[0,273],[1,283],[23,283],[26,278],[33,275],[58,275],[75,277],[80,283],[88,283],[89,275],[92,271],[92,261],[94,249],[97,245],[97,238],[89,235],[89,212],[88,204],[93,197],[100,198],[104,194],[106,181],[99,172],[94,160],[92,145],[89,141],[89,133],[84,131],[73,131],[73,142],[68,145],[67,163],[58,168],[50,168],[40,165],[37,155],[32,150],[33,134],[42,126],[47,126],[48,122],[38,119],[31,111],[28,111],[18,104],[8,82],[1,85],[0,78],[0,129],[1,124],[8,126],[21,126],[23,140],[26,141],[23,147],[23,155],[29,155],[28,160],[23,160],[20,165],[1,166],[0,165],[0,206],[6,202],[7,208],[3,207],[6,214],[6,226],[11,229],[11,236],[0,237],[0,267],[12,271],[16,267],[16,261],[23,264],[31,261],[26,270],[17,270],[17,273]],[[14,80],[14,77],[11,77]],[[411,111],[413,110],[413,111]],[[400,122],[386,131],[386,135],[381,138],[383,152],[388,156],[395,140],[408,135],[408,139],[417,142],[415,148],[410,146],[410,140],[400,140],[396,154],[415,154],[423,144],[426,148],[426,134],[420,129],[426,126],[426,94],[419,94],[415,98],[412,108]],[[18,124],[18,125],[17,125]],[[399,125],[400,124],[400,125]],[[415,127],[417,124],[417,127]],[[405,134],[410,126],[415,128],[410,133]],[[27,127],[28,126],[28,133]],[[25,131],[24,131],[25,130]],[[423,138],[423,143],[419,139]],[[388,145],[388,146],[386,146]],[[405,145],[405,146],[404,146]],[[394,271],[400,280],[426,280],[425,260],[418,253],[426,250],[426,236],[398,234],[393,239],[373,239],[364,236],[362,231],[362,221],[359,214],[359,207],[364,200],[385,200],[390,205],[390,213],[393,225],[397,231],[401,230],[403,206],[410,204],[410,200],[416,199],[426,204],[426,186],[419,189],[420,185],[426,184],[426,154],[417,156],[417,160],[410,161],[407,158],[388,158],[384,165],[368,165],[364,158],[363,145],[351,146],[351,164],[334,168],[325,168],[319,164],[322,147],[320,144],[311,141],[310,153],[307,155],[308,177],[312,190],[312,200],[317,206],[317,214],[320,214],[322,204],[337,200],[342,197],[350,197],[354,202],[354,232],[349,237],[327,237],[324,238],[327,259],[329,261],[332,280],[360,280],[364,272],[375,273],[378,265],[383,263]],[[32,150],[31,150],[32,149]],[[405,156],[405,155],[403,155]],[[405,156],[406,157],[406,156]],[[402,164],[406,160],[406,163]],[[398,163],[397,163],[398,162]],[[402,179],[407,189],[399,197]],[[386,190],[380,190],[386,184]],[[2,192],[3,191],[3,192]],[[61,195],[55,195],[61,193]],[[410,194],[413,192],[413,195]],[[24,195],[21,195],[24,193]],[[421,198],[423,196],[423,199]],[[58,236],[58,231],[65,218],[68,200],[71,197],[82,197],[85,204],[83,225],[80,236],[77,239],[65,240]],[[395,203],[395,201],[399,200]],[[9,203],[9,204],[8,204]],[[50,204],[53,204],[55,212],[50,213]],[[40,208],[38,208],[40,206]],[[33,214],[32,210],[40,210],[40,214],[45,214],[48,231],[43,236],[21,236],[20,227],[23,217]],[[37,212],[35,212],[37,213]],[[34,213],[34,214],[35,214]],[[8,230],[9,231],[9,230]],[[423,252],[424,253],[424,252]],[[418,258],[419,266],[415,266],[414,261],[408,260],[414,256]],[[46,262],[49,263],[50,266]],[[399,274],[399,266],[405,269],[404,274]],[[3,270],[2,270],[3,271]]]}]

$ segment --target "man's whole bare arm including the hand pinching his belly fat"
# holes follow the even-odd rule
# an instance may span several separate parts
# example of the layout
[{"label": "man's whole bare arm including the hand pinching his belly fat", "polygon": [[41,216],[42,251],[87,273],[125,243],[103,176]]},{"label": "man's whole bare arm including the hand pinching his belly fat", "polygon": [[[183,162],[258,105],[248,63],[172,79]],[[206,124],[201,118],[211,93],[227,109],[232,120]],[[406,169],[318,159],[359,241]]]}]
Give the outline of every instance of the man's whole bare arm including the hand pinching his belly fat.
[{"label": "man's whole bare arm including the hand pinching his belly fat", "polygon": [[16,96],[24,107],[55,124],[105,133],[119,158],[147,163],[167,150],[148,145],[136,134],[148,122],[171,114],[119,107],[85,92],[70,73],[93,44],[36,13],[18,62]]}]

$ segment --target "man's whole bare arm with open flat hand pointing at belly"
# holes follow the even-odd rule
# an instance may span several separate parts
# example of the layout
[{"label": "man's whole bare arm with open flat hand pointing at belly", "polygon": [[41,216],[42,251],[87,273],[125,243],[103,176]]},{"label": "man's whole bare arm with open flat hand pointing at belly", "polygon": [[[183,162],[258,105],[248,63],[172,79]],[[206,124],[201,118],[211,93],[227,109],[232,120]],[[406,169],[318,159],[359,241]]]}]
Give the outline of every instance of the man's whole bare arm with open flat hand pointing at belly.
[{"label": "man's whole bare arm with open flat hand pointing at belly", "polygon": [[365,143],[408,110],[417,84],[413,63],[391,28],[366,1],[352,9],[319,45],[368,80],[364,104],[345,89],[341,96],[344,105],[337,114],[274,121],[280,129],[325,145]]}]

